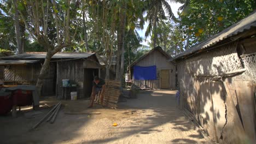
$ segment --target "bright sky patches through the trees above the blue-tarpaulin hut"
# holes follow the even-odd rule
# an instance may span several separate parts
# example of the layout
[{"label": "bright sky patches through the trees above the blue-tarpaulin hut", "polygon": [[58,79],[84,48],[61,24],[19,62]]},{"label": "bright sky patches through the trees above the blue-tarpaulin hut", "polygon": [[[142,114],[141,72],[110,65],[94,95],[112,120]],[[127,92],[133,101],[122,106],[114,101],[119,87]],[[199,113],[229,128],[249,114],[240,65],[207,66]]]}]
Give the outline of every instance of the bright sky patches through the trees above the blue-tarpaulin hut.
[{"label": "bright sky patches through the trees above the blue-tarpaulin hut", "polygon": [[[178,8],[182,6],[181,3],[171,3],[171,2],[168,2],[170,5],[171,5],[171,8],[172,8],[172,13],[174,14],[175,17],[178,17],[178,14],[177,14],[177,11],[178,11]],[[146,29],[148,27],[148,22],[145,22],[144,24],[144,29],[136,29],[139,36],[141,36],[143,39],[145,37],[145,32],[146,32]],[[150,35],[149,37],[145,40],[143,40],[143,42],[141,43],[142,45],[146,45],[146,46],[149,46],[148,45],[148,41],[150,41]]]}]

